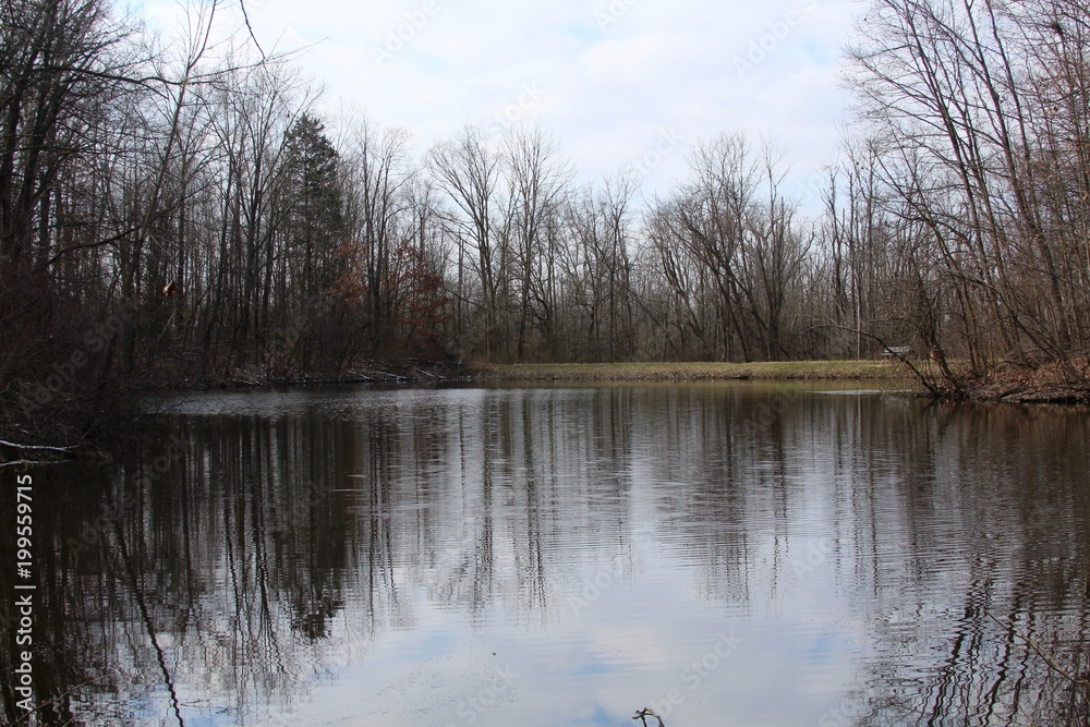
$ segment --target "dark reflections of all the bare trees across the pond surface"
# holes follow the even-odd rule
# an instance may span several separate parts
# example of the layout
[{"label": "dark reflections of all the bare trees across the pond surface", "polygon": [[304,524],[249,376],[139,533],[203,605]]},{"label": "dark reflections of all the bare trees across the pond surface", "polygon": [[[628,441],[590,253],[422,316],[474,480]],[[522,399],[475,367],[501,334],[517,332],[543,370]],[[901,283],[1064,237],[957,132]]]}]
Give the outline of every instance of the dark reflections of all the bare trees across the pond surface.
[{"label": "dark reflections of all the bare trees across the pond surface", "polygon": [[[1085,678],[1086,420],[814,395],[770,417],[768,395],[376,392],[336,416],[180,420],[185,457],[128,490],[161,448],[44,470],[43,716],[290,711],[423,608],[547,623],[588,573],[640,572],[654,537],[712,605],[846,604],[867,645],[838,724],[1086,724],[1085,691],[1028,646]],[[74,537],[94,542],[77,559]]]}]

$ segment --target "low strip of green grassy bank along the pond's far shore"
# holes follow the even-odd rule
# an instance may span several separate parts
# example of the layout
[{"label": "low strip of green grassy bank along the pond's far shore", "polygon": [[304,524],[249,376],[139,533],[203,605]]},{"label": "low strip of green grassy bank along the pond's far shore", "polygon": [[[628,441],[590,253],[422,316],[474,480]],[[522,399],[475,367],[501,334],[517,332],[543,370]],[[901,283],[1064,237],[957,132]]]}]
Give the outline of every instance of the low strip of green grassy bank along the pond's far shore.
[{"label": "low strip of green grassy bank along the pond's far shore", "polygon": [[907,379],[893,361],[790,361],[734,363],[511,364],[480,367],[486,379],[506,381],[711,381]]}]

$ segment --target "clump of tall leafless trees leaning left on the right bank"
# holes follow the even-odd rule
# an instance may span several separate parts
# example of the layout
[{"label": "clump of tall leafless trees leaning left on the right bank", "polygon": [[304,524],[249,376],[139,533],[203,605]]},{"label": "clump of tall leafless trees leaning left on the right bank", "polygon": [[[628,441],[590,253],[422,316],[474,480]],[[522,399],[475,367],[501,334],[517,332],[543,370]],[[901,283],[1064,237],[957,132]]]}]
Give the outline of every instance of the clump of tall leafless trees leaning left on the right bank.
[{"label": "clump of tall leafless trees leaning left on the right bank", "polygon": [[1071,39],[1085,37],[1087,11],[882,0],[860,26],[855,86],[883,145],[883,182],[898,214],[929,230],[925,255],[949,283],[977,373],[996,356],[1063,362],[1087,341],[1070,234],[1085,225],[1070,204],[1086,170],[1085,45]]}]

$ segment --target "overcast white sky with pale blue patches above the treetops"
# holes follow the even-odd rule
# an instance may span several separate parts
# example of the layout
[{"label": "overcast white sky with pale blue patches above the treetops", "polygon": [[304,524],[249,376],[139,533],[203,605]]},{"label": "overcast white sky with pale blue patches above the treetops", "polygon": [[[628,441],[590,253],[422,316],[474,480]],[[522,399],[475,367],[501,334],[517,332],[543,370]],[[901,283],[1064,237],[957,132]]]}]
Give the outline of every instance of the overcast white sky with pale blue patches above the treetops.
[{"label": "overcast white sky with pale blue patches above the treetops", "polygon": [[[156,0],[156,2],[169,0]],[[153,5],[154,7],[154,5]],[[161,8],[161,5],[160,5]],[[720,132],[772,137],[789,185],[834,160],[859,0],[246,0],[266,51],[306,47],[323,108],[364,109],[423,150],[467,122],[540,123],[581,180],[635,165],[644,193]]]}]

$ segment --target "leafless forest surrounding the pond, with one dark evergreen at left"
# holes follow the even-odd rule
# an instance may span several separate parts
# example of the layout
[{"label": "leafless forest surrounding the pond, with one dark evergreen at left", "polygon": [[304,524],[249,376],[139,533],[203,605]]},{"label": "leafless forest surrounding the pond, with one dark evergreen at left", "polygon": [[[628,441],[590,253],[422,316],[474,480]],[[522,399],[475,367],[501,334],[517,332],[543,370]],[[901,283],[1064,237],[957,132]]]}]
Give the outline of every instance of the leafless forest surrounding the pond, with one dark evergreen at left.
[{"label": "leafless forest surrounding the pond, with one dark evergreen at left", "polygon": [[417,148],[324,118],[291,53],[211,41],[217,2],[182,38],[109,0],[2,3],[7,438],[94,436],[149,390],[407,360],[906,347],[935,393],[997,372],[1090,388],[1086,0],[872,0],[851,132],[809,201],[730,130],[646,199],[632,168],[577,183],[540,126]]}]

